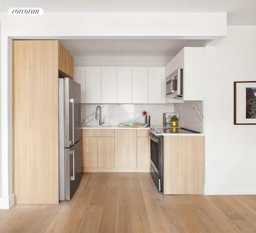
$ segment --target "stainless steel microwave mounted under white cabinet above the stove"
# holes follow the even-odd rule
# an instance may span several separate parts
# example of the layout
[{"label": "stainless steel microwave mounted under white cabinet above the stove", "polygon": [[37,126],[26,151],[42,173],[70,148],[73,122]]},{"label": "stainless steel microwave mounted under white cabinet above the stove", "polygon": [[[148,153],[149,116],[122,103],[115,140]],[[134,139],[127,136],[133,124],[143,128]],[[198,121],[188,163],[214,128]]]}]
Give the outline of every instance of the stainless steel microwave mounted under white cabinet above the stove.
[{"label": "stainless steel microwave mounted under white cabinet above the stove", "polygon": [[176,69],[166,77],[166,97],[183,98],[183,69]]}]

